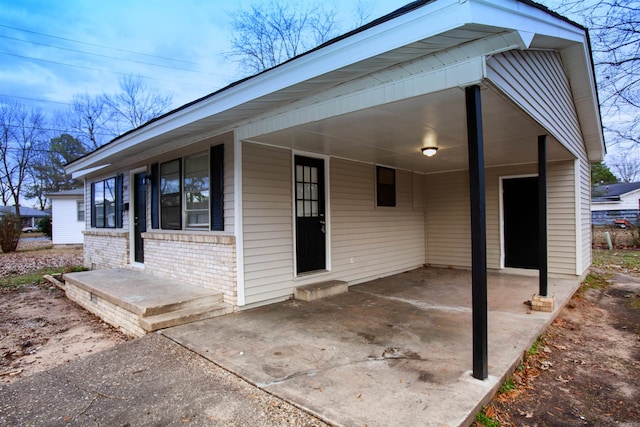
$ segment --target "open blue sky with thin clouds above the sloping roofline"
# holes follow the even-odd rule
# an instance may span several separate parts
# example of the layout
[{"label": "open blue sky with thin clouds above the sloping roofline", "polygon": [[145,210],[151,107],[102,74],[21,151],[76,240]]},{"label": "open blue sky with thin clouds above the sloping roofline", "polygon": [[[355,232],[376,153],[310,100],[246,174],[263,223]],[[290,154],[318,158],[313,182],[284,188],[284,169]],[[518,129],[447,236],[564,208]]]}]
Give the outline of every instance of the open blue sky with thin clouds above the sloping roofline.
[{"label": "open blue sky with thin clouds above the sloping roofline", "polygon": [[[225,52],[229,12],[250,3],[0,0],[0,98],[62,109],[74,94],[116,92],[129,74],[171,93],[177,107],[243,77]],[[371,19],[405,3],[378,0]],[[335,4],[352,28],[356,0]]]}]

